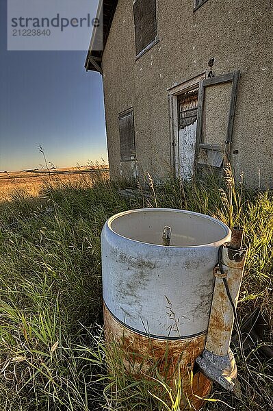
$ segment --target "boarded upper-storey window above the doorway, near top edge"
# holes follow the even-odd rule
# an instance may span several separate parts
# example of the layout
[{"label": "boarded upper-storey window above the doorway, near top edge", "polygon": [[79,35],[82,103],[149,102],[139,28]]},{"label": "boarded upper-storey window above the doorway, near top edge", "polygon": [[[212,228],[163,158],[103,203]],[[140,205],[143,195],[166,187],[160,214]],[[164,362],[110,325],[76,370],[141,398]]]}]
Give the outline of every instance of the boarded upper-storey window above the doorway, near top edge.
[{"label": "boarded upper-storey window above the doorway, near top edge", "polygon": [[151,45],[157,37],[156,0],[135,0],[133,16],[135,20],[136,55]]}]

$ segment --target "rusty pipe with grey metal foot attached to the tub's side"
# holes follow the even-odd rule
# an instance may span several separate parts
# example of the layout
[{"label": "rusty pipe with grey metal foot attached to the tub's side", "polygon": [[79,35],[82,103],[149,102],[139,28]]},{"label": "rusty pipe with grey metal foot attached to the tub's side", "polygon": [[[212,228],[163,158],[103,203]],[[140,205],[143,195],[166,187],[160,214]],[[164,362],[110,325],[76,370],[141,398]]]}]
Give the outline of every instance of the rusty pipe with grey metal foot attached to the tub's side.
[{"label": "rusty pipe with grey metal foot attached to the tub's side", "polygon": [[196,360],[209,378],[227,390],[233,389],[237,377],[229,345],[247,253],[246,247],[242,247],[242,236],[242,229],[233,229],[231,242],[223,245],[221,260],[213,270],[215,284],[207,340],[202,356]]}]

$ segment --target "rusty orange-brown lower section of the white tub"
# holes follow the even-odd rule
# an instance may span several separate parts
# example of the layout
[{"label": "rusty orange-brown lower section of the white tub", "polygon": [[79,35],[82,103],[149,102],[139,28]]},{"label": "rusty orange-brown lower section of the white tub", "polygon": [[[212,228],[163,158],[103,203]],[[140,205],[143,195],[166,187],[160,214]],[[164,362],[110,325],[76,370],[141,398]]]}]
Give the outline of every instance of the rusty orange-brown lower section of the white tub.
[{"label": "rusty orange-brown lower section of the white tub", "polygon": [[[180,366],[182,399],[181,410],[190,409],[189,403],[200,410],[204,405],[202,399],[211,391],[211,381],[200,371],[192,375],[194,362],[203,352],[206,334],[181,340],[161,340],[150,338],[128,329],[119,323],[104,306],[104,330],[108,343],[116,341],[121,352],[125,353],[125,367],[128,371],[140,377],[148,373],[153,366],[166,379],[170,387],[174,386]],[[192,375],[192,377],[191,377]],[[194,409],[194,408],[193,408]]]}]

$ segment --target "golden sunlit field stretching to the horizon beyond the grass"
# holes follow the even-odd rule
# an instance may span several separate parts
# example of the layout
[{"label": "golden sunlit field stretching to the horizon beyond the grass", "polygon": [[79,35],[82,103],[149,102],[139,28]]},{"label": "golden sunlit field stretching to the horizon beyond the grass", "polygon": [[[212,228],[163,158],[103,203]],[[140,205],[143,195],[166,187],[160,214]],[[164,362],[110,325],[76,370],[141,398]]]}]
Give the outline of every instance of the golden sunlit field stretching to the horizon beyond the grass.
[{"label": "golden sunlit field stretching to the horizon beyond the grass", "polygon": [[14,195],[36,197],[42,187],[83,182],[97,171],[107,173],[108,166],[96,165],[57,170],[12,171],[0,173],[0,201],[10,201]]}]

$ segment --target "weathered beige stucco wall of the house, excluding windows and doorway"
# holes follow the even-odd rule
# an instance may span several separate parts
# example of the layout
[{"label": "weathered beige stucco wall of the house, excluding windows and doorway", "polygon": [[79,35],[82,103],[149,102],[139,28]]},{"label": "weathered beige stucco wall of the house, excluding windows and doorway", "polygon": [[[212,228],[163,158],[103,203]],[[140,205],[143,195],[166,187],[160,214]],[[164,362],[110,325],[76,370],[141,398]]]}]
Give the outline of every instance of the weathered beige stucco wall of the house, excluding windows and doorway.
[{"label": "weathered beige stucco wall of the house, excluding windows and doorway", "polygon": [[[203,73],[214,57],[215,75],[241,71],[232,146],[236,177],[244,172],[248,185],[272,186],[272,9],[268,0],[208,0],[194,12],[192,1],[158,0],[159,42],[135,61],[133,0],[118,1],[103,53],[112,177],[120,175],[118,113],[130,107],[137,164],[125,167],[157,178],[170,173],[168,88]],[[207,127],[213,129],[213,112]]]}]

